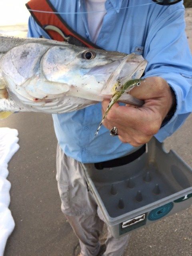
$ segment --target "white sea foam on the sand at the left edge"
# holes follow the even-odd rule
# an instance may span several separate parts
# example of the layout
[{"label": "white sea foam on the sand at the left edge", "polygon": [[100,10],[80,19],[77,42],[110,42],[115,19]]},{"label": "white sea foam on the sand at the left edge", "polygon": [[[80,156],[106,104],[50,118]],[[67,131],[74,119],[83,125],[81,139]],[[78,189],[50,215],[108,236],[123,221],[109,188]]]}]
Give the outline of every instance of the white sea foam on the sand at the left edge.
[{"label": "white sea foam on the sand at the left edge", "polygon": [[3,256],[7,238],[15,226],[8,209],[11,184],[6,178],[8,176],[8,162],[19,149],[18,140],[16,129],[0,128],[0,256]]}]

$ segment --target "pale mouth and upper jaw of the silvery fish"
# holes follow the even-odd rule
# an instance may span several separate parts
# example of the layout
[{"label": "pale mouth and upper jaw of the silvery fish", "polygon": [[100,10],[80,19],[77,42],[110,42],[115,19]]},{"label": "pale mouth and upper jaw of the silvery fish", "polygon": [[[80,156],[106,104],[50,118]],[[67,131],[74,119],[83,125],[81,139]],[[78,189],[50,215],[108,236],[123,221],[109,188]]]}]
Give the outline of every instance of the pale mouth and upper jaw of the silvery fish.
[{"label": "pale mouth and upper jaw of the silvery fish", "polygon": [[103,78],[105,78],[104,87],[100,93],[111,95],[112,88],[116,83],[124,84],[128,80],[140,78],[146,66],[147,61],[142,55],[132,53],[109,64],[96,66],[87,74],[94,75],[98,82],[102,82]]}]

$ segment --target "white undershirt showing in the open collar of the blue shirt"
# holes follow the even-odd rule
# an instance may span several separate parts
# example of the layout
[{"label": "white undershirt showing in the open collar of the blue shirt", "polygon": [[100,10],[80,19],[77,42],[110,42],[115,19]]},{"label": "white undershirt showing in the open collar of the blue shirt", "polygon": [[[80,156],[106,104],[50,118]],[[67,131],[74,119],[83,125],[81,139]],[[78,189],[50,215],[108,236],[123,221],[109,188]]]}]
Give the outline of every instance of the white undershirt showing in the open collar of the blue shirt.
[{"label": "white undershirt showing in the open collar of the blue shirt", "polygon": [[102,27],[104,15],[106,14],[105,2],[106,0],[86,0],[87,12],[92,12],[87,14],[87,21],[89,34],[93,43],[97,40]]}]

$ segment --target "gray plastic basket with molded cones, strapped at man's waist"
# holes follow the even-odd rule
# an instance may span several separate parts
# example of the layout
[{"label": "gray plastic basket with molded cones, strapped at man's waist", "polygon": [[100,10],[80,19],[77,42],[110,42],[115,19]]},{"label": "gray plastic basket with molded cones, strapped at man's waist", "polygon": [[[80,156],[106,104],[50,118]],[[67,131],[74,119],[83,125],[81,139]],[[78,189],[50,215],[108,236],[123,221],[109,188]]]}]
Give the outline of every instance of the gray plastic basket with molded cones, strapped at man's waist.
[{"label": "gray plastic basket with molded cones, strapped at man's waist", "polygon": [[155,138],[130,164],[87,166],[86,181],[115,238],[192,204],[192,168]]}]

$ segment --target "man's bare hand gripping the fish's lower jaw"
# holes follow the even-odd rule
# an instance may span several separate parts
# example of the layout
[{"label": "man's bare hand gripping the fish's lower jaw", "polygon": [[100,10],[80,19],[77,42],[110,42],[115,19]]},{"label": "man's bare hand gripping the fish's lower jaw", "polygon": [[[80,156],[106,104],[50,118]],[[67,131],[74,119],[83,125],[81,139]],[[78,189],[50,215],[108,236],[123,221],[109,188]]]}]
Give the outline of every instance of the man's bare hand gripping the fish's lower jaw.
[{"label": "man's bare hand gripping the fish's lower jaw", "polygon": [[[116,126],[119,139],[137,147],[147,143],[158,132],[172,107],[174,96],[166,80],[157,76],[146,78],[130,94],[144,100],[144,105],[137,108],[131,105],[119,106],[116,103],[103,124],[108,130]],[[102,102],[102,114],[108,104],[108,100]]]}]

